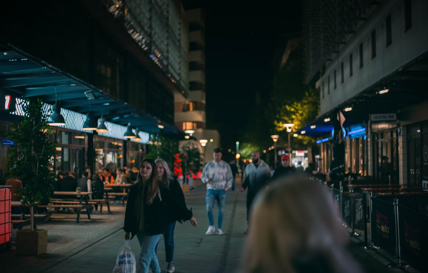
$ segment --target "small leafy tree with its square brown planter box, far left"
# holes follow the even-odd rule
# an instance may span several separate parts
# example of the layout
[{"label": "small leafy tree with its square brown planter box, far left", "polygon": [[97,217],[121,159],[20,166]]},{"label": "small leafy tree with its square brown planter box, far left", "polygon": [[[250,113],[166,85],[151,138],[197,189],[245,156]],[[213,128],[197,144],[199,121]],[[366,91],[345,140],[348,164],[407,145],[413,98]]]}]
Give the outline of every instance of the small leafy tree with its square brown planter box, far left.
[{"label": "small leafy tree with its square brown planter box, far left", "polygon": [[55,158],[55,146],[48,139],[50,114],[40,99],[24,101],[24,118],[15,125],[15,130],[6,136],[15,145],[8,155],[8,176],[21,178],[23,188],[17,195],[24,206],[30,208],[30,229],[18,230],[16,249],[19,254],[39,255],[47,252],[48,231],[34,229],[34,207],[48,202],[53,187],[51,160]]}]

